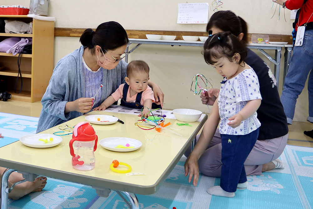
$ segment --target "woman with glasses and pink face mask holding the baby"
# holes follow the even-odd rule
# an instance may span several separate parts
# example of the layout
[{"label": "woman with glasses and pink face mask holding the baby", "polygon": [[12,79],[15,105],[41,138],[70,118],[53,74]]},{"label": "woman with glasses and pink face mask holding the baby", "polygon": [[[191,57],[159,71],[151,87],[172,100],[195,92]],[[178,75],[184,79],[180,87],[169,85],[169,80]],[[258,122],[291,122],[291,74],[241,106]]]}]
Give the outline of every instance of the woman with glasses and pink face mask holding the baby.
[{"label": "woman with glasses and pink face mask holding the baby", "polygon": [[[41,100],[43,105],[37,133],[98,107],[125,83],[128,37],[117,22],[100,24],[96,31],[86,29],[82,46],[59,60]],[[155,101],[163,107],[164,94],[155,83]],[[158,98],[159,97],[159,98]]]}]

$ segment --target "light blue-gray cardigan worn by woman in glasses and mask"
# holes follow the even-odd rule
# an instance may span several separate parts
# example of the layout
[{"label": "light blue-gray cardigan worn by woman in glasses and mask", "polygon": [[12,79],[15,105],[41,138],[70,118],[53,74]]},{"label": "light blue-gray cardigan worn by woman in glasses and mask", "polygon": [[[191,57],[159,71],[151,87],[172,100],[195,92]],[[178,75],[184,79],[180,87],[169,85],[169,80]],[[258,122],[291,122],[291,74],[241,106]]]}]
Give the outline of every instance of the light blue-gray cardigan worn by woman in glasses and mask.
[{"label": "light blue-gray cardigan worn by woman in glasses and mask", "polygon": [[[64,113],[64,110],[66,102],[73,102],[76,99],[85,97],[85,75],[82,73],[83,52],[84,47],[81,46],[59,60],[55,66],[49,85],[41,99],[43,107],[36,133],[80,116],[80,112]],[[122,83],[125,83],[126,68],[127,63],[123,60],[112,70],[101,68],[103,87],[99,104]]]}]

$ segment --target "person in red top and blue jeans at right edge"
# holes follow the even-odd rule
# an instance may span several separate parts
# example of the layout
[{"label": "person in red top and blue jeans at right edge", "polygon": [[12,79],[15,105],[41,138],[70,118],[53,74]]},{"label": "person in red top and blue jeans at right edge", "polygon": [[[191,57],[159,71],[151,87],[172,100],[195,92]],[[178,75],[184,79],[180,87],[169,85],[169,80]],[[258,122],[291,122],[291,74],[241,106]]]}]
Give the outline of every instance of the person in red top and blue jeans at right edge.
[{"label": "person in red top and blue jeans at right edge", "polygon": [[[292,124],[297,98],[301,94],[306,79],[309,76],[309,116],[307,121],[313,123],[313,0],[277,0],[273,2],[290,10],[300,8],[295,30],[297,31],[300,26],[305,26],[302,45],[297,46],[295,44],[293,48],[293,54],[290,59],[280,100],[284,106],[288,124]],[[304,133],[313,138],[313,130],[305,131]]]}]

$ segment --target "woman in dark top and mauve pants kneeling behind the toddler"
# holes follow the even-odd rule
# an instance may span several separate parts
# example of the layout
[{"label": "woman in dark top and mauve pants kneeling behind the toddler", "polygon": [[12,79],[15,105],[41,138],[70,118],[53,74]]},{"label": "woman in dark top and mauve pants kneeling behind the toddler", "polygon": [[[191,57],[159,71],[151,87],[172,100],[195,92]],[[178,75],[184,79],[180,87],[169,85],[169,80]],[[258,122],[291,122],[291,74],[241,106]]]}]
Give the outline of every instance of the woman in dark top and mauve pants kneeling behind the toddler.
[{"label": "woman in dark top and mauve pants kneeling behind the toddler", "polygon": [[[247,23],[229,10],[214,13],[208,22],[207,31],[209,34],[230,31],[242,42],[248,42]],[[283,153],[287,144],[287,119],[280,102],[275,77],[269,66],[249,49],[247,49],[247,57],[244,62],[253,68],[258,76],[262,96],[261,105],[257,110],[257,118],[261,123],[259,137],[244,162],[244,168],[247,175],[261,175],[264,171],[284,166],[277,158]],[[205,95],[202,94],[202,103],[213,105],[219,91],[219,89],[210,89]],[[204,145],[203,153],[190,153],[191,149],[187,149],[185,152],[185,156],[188,157],[185,163],[185,175],[189,174],[189,182],[195,175],[193,178],[194,185],[198,182],[199,170],[204,175],[221,176],[221,135],[218,129],[213,135]]]}]

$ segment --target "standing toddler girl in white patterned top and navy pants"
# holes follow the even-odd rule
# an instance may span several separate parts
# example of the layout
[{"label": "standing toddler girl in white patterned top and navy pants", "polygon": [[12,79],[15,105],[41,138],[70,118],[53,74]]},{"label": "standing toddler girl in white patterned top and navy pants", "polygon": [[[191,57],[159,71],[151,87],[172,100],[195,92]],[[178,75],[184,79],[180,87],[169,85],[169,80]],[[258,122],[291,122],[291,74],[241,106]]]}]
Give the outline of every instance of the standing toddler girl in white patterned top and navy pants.
[{"label": "standing toddler girl in white patterned top and navy pants", "polygon": [[[210,195],[234,197],[237,187],[247,188],[244,161],[259,136],[261,123],[257,109],[261,104],[258,76],[244,62],[247,47],[228,32],[214,34],[204,43],[204,60],[223,76],[218,100],[192,151],[203,153],[216,131],[222,144],[221,184],[208,189]],[[204,145],[204,146],[203,146]],[[204,148],[204,149],[203,149]]]}]

